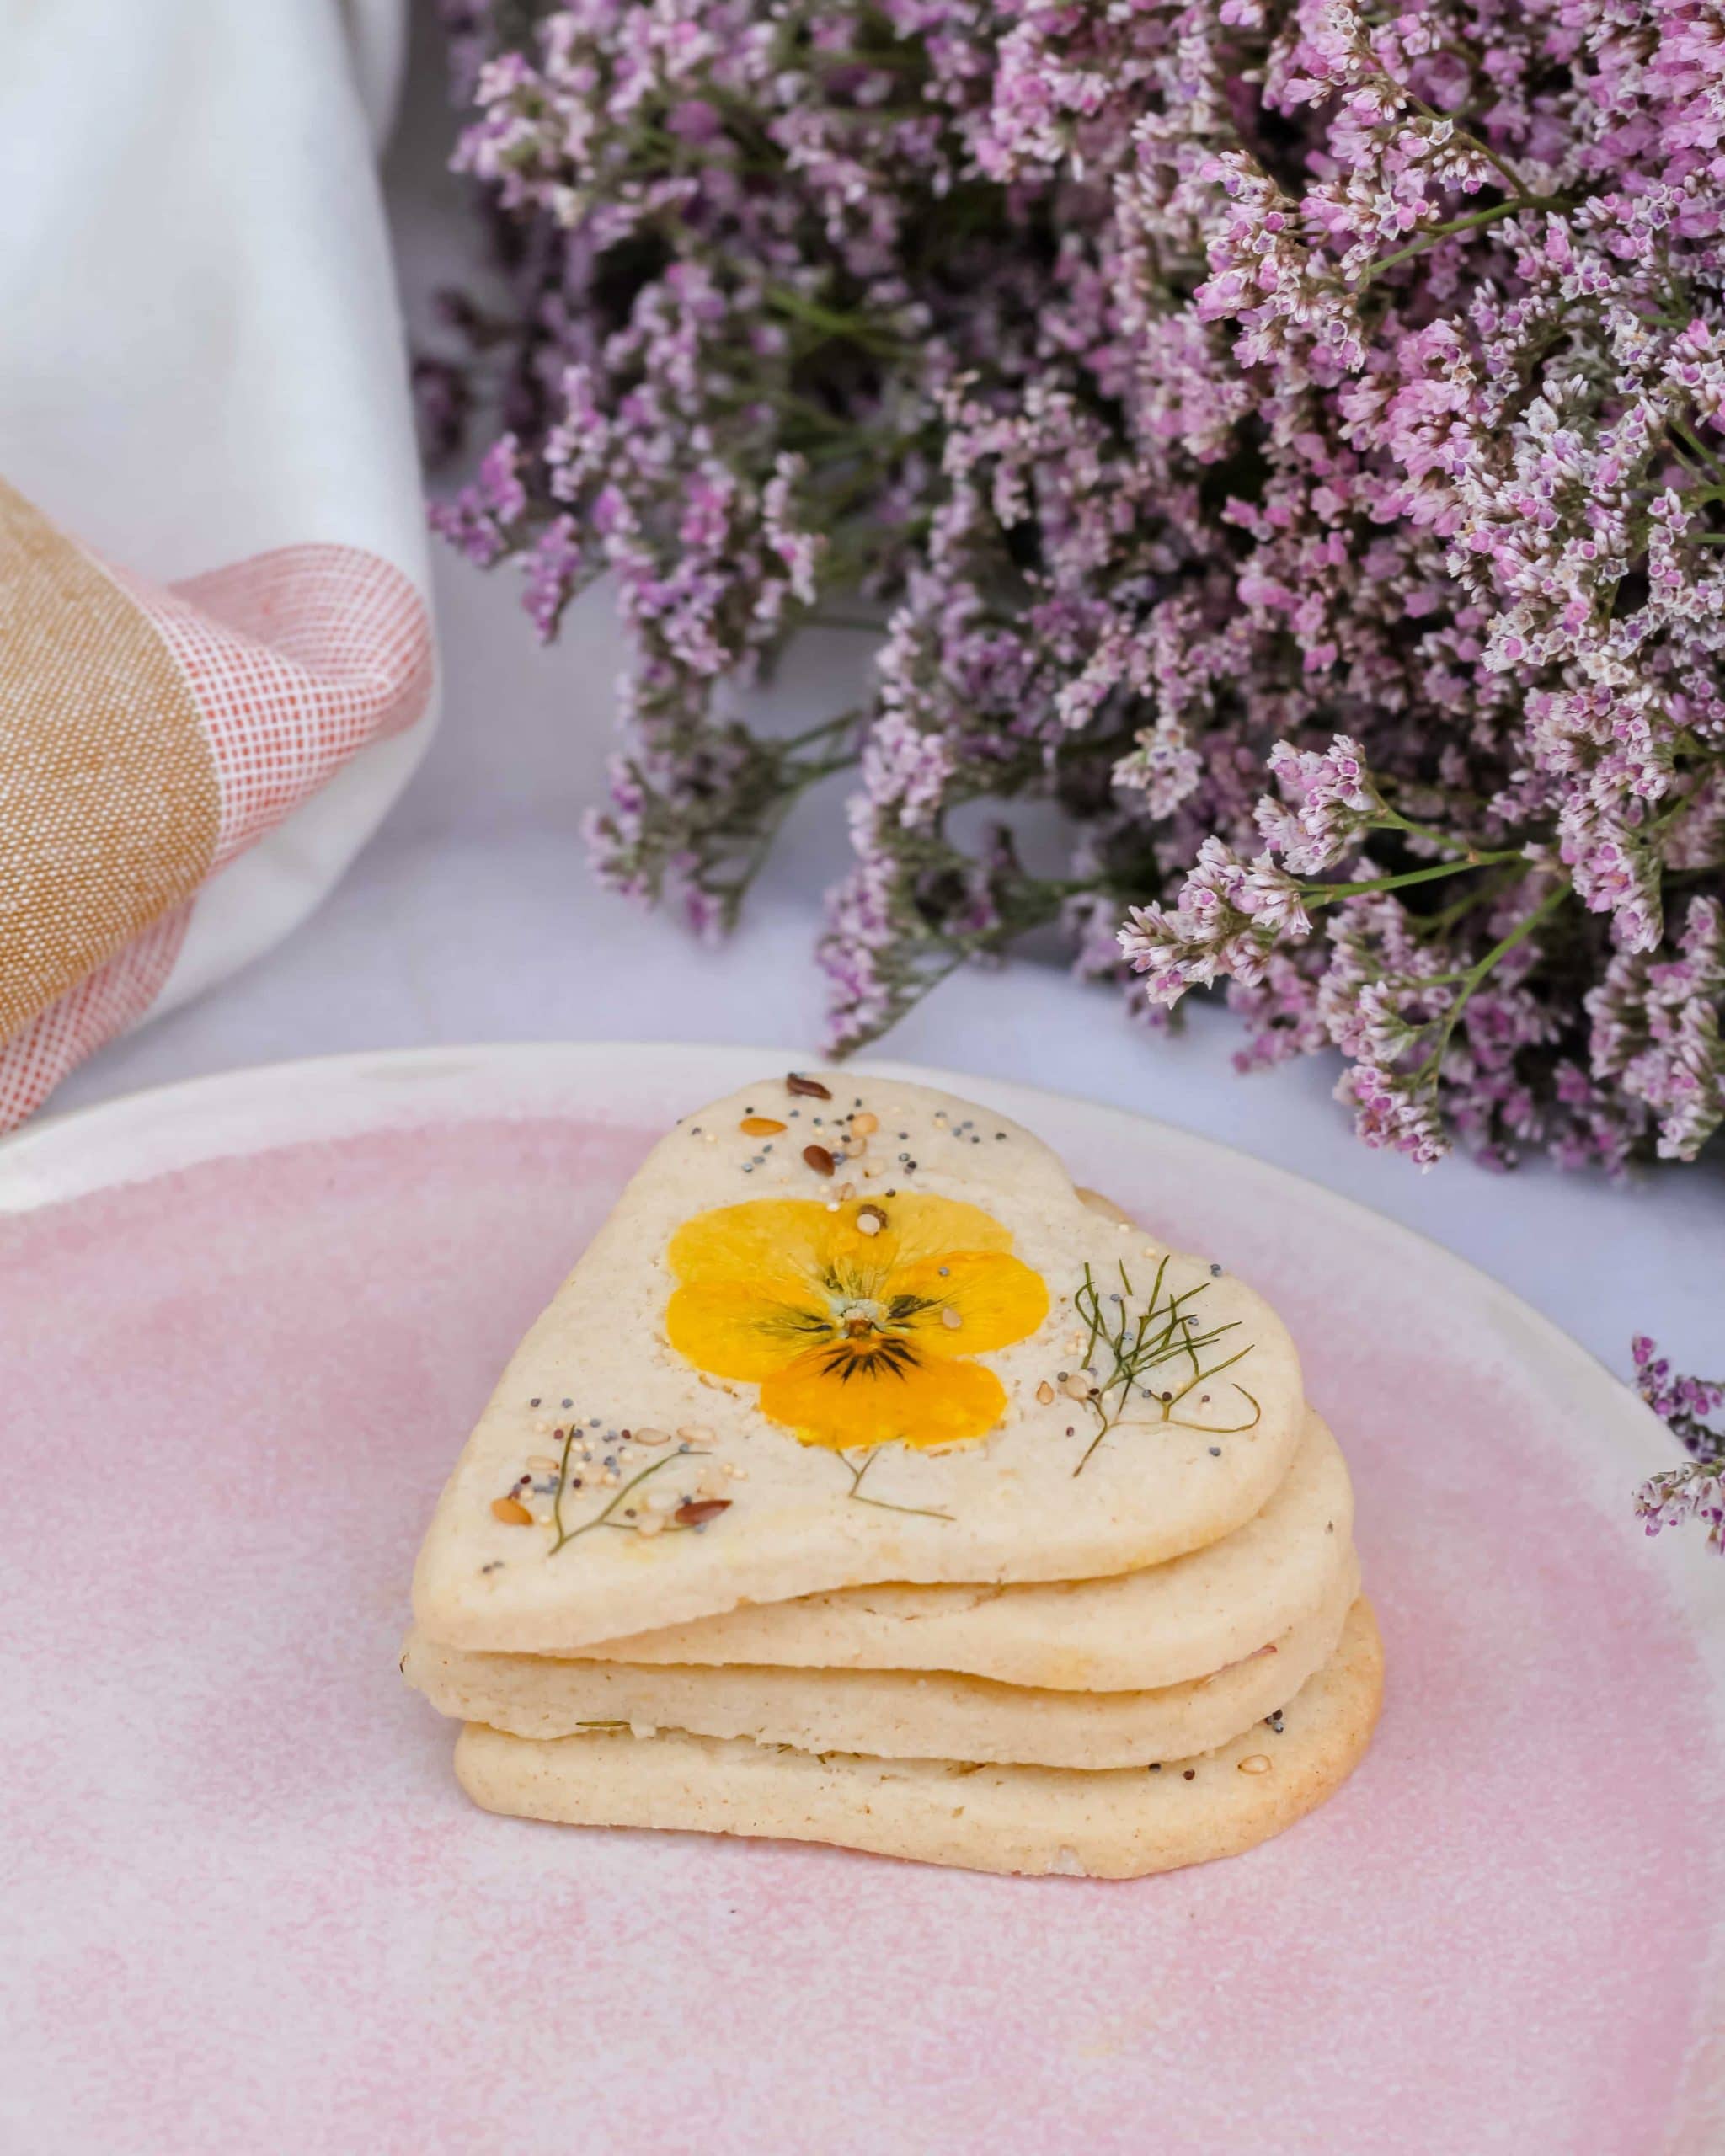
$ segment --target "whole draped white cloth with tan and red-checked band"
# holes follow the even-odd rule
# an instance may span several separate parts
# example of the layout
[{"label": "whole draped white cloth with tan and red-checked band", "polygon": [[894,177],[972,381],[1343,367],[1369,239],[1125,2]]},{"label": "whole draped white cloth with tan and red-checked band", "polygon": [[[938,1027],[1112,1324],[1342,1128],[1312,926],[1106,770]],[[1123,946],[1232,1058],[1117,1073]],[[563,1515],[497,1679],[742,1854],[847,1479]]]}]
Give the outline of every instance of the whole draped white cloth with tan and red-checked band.
[{"label": "whole draped white cloth with tan and red-checked band", "polygon": [[0,0],[0,1130],[306,921],[431,740],[405,30]]}]

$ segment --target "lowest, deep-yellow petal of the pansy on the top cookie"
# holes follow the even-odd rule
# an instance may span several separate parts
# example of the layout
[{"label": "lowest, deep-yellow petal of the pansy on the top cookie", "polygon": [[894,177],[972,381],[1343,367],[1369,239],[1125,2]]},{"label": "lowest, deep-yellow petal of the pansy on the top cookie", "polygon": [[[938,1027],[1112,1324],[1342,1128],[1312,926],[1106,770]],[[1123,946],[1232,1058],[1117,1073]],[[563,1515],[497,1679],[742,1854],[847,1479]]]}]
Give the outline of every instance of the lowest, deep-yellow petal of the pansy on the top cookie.
[{"label": "lowest, deep-yellow petal of the pansy on the top cookie", "polygon": [[[834,1369],[834,1363],[839,1365]],[[897,1365],[815,1348],[761,1386],[761,1414],[787,1423],[804,1445],[832,1451],[871,1445],[964,1445],[1000,1421],[1007,1395],[981,1363]]]}]

